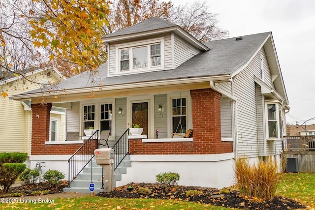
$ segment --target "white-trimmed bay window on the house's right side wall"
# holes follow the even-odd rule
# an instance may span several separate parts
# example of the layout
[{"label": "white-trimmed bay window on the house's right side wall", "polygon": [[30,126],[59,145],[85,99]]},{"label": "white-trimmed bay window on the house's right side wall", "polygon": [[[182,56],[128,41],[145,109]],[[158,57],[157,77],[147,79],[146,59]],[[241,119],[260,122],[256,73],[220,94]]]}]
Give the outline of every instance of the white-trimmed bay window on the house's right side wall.
[{"label": "white-trimmed bay window on the house's right side wall", "polygon": [[282,111],[278,103],[266,102],[267,139],[282,139]]}]

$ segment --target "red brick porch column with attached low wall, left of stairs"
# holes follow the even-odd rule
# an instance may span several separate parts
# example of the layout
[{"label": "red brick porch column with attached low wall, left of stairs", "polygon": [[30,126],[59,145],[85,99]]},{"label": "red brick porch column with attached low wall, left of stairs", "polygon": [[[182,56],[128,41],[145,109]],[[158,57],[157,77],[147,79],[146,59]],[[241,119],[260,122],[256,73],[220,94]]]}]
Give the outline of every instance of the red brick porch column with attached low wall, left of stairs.
[{"label": "red brick porch column with attached low wall, left of stairs", "polygon": [[45,145],[52,104],[32,104],[32,155],[73,154],[81,144]]}]

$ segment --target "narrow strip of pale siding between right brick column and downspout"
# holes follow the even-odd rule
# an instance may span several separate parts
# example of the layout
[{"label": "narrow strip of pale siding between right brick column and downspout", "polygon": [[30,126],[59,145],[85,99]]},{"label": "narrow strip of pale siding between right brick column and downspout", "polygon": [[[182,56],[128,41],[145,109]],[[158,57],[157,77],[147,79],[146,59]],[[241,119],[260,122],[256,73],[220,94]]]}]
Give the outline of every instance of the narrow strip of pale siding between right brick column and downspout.
[{"label": "narrow strip of pale siding between right brick column and downspout", "polygon": [[232,138],[232,108],[229,98],[221,98],[221,137]]}]

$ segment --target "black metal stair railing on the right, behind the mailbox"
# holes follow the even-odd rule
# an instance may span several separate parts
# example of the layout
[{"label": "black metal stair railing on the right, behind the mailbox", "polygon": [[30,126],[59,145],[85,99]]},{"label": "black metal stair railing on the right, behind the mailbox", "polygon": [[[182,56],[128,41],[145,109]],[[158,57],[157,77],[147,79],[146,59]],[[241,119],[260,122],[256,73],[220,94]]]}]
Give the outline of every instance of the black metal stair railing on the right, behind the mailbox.
[{"label": "black metal stair railing on the right, behind the mailbox", "polygon": [[129,142],[128,142],[129,128],[125,133],[117,140],[112,149],[114,150],[114,171],[123,161],[127,154],[129,154]]}]

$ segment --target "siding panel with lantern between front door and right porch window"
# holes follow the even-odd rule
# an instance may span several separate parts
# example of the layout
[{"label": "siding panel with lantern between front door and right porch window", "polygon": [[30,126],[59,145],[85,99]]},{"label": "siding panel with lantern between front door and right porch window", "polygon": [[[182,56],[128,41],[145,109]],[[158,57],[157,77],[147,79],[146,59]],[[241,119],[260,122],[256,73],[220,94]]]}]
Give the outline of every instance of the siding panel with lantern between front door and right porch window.
[{"label": "siding panel with lantern between front door and right porch window", "polygon": [[[158,112],[158,106],[162,106],[162,112]],[[167,94],[154,96],[155,129],[158,128],[158,138],[167,138]]]}]

